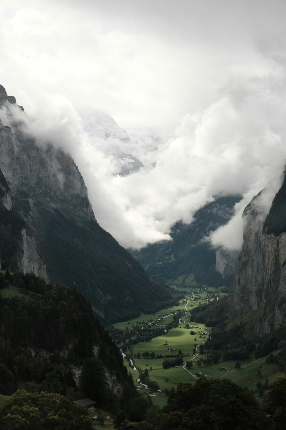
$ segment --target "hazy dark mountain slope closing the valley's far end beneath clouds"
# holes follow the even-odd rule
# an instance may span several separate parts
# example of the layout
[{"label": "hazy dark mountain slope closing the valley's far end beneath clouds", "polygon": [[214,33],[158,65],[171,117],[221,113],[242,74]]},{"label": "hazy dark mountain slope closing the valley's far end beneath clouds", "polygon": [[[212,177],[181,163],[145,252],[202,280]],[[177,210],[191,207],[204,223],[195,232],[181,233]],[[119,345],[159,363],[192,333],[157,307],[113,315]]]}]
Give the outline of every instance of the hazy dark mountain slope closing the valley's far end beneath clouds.
[{"label": "hazy dark mountain slope closing the valley's far end beneath clouds", "polygon": [[[187,285],[193,282],[193,275],[197,283],[208,286],[226,283],[228,279],[223,280],[222,274],[225,272],[229,276],[233,273],[231,266],[238,257],[237,253],[228,254],[230,256],[227,261],[226,258],[221,258],[220,250],[216,252],[211,249],[202,239],[229,221],[234,213],[233,207],[240,198],[219,197],[199,209],[192,224],[176,222],[171,228],[172,241],[163,240],[130,252],[148,273],[168,284]],[[220,265],[217,267],[219,257]]]}]

